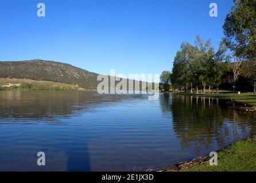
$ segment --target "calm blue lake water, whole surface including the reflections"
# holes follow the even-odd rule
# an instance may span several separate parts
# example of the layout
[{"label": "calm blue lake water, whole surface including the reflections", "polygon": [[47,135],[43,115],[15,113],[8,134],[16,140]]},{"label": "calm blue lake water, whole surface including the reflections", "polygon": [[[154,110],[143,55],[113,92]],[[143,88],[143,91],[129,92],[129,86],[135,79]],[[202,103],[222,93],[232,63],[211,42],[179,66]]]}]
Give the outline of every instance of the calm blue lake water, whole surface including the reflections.
[{"label": "calm blue lake water, whole surface including the reflections", "polygon": [[[255,114],[211,98],[161,93],[0,92],[0,170],[139,171],[223,149]],[[46,166],[37,165],[45,152]]]}]

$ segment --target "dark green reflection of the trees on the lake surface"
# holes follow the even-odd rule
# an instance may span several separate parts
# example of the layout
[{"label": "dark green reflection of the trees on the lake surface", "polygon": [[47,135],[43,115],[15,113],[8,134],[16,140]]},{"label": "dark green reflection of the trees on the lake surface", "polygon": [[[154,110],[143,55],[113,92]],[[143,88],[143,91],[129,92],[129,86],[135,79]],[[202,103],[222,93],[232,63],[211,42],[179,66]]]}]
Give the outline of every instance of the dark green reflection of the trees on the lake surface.
[{"label": "dark green reflection of the trees on the lake surface", "polygon": [[228,141],[241,139],[240,134],[252,130],[249,125],[255,121],[255,113],[236,110],[218,98],[164,93],[160,103],[163,116],[172,118],[181,147],[193,148],[197,154],[204,149],[223,149]]}]

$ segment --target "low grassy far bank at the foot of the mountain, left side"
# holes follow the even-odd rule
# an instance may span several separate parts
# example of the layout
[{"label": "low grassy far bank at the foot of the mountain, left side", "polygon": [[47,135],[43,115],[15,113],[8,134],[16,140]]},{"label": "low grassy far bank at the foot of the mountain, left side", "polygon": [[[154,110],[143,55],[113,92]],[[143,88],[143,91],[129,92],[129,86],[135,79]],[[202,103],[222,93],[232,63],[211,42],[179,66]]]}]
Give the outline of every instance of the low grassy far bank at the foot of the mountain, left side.
[{"label": "low grassy far bank at the foot of the mountain, left side", "polygon": [[[4,85],[18,84],[19,86],[4,87]],[[82,88],[69,85],[66,83],[52,82],[52,81],[34,81],[32,79],[11,79],[0,78],[1,90],[18,90],[18,91],[33,91],[33,90],[83,90]]]}]

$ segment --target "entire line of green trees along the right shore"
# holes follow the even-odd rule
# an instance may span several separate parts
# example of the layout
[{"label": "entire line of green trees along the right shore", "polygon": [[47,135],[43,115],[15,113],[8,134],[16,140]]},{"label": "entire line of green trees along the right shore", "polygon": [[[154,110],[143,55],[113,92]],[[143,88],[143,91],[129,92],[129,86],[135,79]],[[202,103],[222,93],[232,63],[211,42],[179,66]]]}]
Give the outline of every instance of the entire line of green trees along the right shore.
[{"label": "entire line of green trees along the right shore", "polygon": [[163,71],[162,89],[196,94],[219,89],[253,92],[256,96],[256,0],[234,0],[224,25],[224,37],[215,49],[211,39],[183,42],[172,71]]}]

